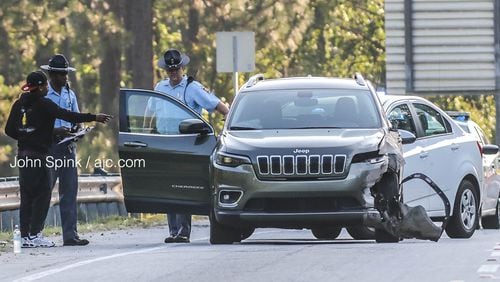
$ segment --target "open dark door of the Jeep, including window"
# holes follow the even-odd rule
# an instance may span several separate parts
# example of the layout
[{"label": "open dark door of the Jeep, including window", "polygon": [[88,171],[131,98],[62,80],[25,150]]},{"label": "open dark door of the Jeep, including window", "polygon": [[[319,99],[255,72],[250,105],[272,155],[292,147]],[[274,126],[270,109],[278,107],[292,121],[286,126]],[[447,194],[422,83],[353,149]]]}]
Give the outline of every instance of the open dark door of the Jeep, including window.
[{"label": "open dark door of the Jeep, including window", "polygon": [[[204,131],[179,130],[186,120]],[[208,215],[210,156],[216,142],[213,128],[178,100],[154,91],[121,89],[120,160],[141,164],[121,168],[127,211]]]}]

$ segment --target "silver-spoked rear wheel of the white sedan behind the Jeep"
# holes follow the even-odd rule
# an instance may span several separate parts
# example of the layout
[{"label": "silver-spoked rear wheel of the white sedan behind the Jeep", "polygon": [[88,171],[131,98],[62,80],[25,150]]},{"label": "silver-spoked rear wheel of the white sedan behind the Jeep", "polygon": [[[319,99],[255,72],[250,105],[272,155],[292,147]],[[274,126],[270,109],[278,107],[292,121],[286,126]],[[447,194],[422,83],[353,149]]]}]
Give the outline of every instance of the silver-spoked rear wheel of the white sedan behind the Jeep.
[{"label": "silver-spoked rear wheel of the white sedan behind the Jeep", "polygon": [[470,238],[479,221],[478,206],[474,184],[469,180],[462,180],[455,197],[453,215],[446,226],[446,234],[450,238]]}]

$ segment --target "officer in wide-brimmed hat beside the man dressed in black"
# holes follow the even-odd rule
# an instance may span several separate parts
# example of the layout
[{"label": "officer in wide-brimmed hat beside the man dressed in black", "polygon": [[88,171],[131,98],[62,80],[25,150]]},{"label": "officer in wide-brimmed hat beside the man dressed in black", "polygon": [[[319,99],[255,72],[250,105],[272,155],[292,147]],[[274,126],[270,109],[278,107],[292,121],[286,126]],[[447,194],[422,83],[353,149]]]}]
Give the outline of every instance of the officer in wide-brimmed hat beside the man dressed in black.
[{"label": "officer in wide-brimmed hat beside the man dressed in black", "polygon": [[[49,74],[49,92],[47,98],[59,107],[72,112],[80,112],[76,95],[68,84],[68,72],[76,69],[69,66],[68,60],[62,54],[54,55],[48,65],[40,66]],[[72,160],[76,156],[76,144],[73,141],[58,144],[58,142],[78,129],[75,123],[57,119],[54,123],[54,143],[50,155],[57,160]],[[62,162],[65,163],[65,162]],[[72,164],[71,162],[66,162]],[[59,178],[59,212],[63,231],[64,246],[85,246],[88,240],[82,239],[77,232],[77,202],[78,171],[75,165],[53,168],[51,170],[52,187]]]}]

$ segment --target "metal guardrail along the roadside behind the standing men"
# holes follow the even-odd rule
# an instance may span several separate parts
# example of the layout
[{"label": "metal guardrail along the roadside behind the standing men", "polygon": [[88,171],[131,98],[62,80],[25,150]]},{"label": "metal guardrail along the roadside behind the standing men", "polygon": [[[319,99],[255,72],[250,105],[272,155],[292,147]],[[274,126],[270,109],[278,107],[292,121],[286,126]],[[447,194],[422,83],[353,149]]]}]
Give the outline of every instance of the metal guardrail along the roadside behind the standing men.
[{"label": "metal guardrail along the roadside behind the standing men", "polygon": [[[58,185],[52,190],[51,206],[59,203]],[[19,209],[19,178],[0,178],[0,212]],[[78,178],[78,203],[123,202],[119,174],[82,174]]]}]

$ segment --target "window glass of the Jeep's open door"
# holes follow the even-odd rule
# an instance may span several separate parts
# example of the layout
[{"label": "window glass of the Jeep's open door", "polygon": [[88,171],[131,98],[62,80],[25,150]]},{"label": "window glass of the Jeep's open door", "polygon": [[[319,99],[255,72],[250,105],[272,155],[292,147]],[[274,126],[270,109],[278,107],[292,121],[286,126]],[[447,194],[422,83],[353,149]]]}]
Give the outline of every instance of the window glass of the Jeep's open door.
[{"label": "window glass of the Jeep's open door", "polygon": [[176,102],[152,92],[128,92],[125,114],[126,131],[162,135],[177,135],[181,121],[199,118]]}]

